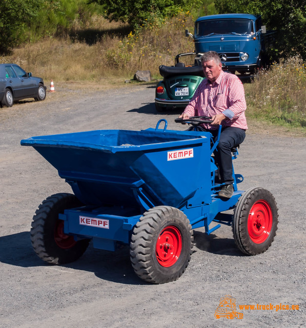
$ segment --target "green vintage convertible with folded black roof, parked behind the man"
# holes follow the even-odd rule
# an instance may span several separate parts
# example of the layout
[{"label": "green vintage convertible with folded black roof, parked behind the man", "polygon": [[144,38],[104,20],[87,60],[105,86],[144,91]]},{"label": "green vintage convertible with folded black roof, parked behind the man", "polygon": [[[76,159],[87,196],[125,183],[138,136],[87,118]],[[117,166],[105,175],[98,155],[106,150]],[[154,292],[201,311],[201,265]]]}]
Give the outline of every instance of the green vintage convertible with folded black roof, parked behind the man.
[{"label": "green vintage convertible with folded black roof, parked behind the man", "polygon": [[196,88],[205,78],[200,64],[200,55],[195,52],[180,53],[175,57],[174,66],[159,66],[164,79],[155,90],[155,108],[158,112],[181,108],[188,105]]}]

